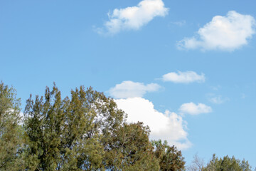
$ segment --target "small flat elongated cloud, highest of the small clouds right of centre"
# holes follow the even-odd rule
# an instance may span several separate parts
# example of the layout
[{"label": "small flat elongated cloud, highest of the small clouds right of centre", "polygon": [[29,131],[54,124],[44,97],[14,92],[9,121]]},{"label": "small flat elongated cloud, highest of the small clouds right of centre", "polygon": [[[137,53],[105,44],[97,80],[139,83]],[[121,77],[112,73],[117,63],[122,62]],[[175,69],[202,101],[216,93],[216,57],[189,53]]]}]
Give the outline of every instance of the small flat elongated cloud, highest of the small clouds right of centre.
[{"label": "small flat elongated cloud, highest of the small clouds right of centre", "polygon": [[162,77],[162,80],[171,81],[174,83],[192,83],[192,82],[204,82],[206,78],[203,73],[201,73],[201,75],[198,75],[194,71],[186,71],[186,72],[178,71],[178,73],[175,73],[175,72],[166,73]]}]

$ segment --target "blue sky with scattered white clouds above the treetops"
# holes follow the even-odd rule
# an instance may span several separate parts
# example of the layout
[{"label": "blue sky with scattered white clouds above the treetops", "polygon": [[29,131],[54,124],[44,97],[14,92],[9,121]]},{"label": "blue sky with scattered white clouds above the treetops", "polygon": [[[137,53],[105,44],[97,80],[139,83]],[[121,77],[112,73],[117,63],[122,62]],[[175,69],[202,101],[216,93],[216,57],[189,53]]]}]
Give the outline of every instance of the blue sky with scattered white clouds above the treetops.
[{"label": "blue sky with scattered white clouds above the treetops", "polygon": [[0,80],[22,100],[57,84],[116,99],[128,121],[256,167],[256,2],[1,1]]}]

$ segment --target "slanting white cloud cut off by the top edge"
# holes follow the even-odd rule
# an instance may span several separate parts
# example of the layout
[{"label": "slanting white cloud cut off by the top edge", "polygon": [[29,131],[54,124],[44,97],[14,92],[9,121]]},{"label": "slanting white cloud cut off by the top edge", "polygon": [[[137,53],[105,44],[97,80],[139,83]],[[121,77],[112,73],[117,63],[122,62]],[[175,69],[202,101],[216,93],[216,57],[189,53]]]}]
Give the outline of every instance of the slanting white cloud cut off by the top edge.
[{"label": "slanting white cloud cut off by the top edge", "polygon": [[[138,30],[154,19],[155,16],[166,16],[168,9],[164,7],[161,0],[140,1],[137,6],[125,9],[114,9],[112,14],[108,14],[110,21],[105,23],[106,32],[110,34],[118,33],[122,30]],[[102,28],[99,33],[104,32]]]}]

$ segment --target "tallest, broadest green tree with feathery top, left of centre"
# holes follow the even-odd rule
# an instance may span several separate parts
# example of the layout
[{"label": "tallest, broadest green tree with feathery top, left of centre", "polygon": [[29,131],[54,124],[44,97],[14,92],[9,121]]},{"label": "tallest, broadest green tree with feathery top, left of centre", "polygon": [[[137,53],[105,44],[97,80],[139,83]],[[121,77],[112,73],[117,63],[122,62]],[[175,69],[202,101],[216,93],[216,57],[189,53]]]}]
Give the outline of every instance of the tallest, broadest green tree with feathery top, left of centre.
[{"label": "tallest, broadest green tree with feathery top, left of centre", "polygon": [[44,97],[26,102],[26,166],[28,170],[104,170],[103,158],[124,113],[112,98],[92,88],[46,88]]}]

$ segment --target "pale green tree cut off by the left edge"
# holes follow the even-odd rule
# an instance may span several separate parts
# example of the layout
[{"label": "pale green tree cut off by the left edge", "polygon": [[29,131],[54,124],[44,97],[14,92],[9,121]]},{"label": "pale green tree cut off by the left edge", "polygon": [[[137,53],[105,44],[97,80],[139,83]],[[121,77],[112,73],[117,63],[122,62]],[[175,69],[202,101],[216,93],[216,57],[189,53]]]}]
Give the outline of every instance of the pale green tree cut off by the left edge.
[{"label": "pale green tree cut off by the left edge", "polygon": [[18,170],[22,167],[20,150],[22,134],[20,99],[16,90],[0,83],[0,170]]}]

